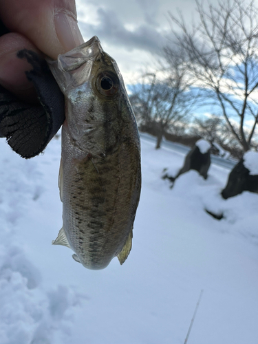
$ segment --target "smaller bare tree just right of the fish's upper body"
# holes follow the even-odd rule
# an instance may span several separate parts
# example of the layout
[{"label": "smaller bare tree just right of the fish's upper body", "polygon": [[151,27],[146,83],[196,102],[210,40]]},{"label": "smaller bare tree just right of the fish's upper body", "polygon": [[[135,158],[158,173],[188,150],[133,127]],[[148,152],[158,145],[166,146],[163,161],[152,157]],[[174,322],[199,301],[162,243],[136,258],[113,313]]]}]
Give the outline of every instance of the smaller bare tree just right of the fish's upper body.
[{"label": "smaller bare tree just right of the fish's upper body", "polygon": [[166,67],[143,74],[141,83],[132,87],[129,98],[136,119],[157,136],[156,149],[164,132],[189,115],[195,98],[190,93],[186,66],[175,52],[166,59]]}]

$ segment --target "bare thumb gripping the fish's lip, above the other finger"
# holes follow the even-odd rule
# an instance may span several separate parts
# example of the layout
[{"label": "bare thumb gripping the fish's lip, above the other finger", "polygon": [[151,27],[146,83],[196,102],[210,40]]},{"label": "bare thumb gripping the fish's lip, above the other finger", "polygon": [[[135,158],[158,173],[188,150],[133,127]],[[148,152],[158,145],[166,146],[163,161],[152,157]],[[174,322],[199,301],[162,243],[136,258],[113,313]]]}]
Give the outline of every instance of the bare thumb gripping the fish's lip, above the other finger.
[{"label": "bare thumb gripping the fish's lip, above the other finger", "polygon": [[74,0],[0,0],[0,17],[54,59],[83,43]]}]

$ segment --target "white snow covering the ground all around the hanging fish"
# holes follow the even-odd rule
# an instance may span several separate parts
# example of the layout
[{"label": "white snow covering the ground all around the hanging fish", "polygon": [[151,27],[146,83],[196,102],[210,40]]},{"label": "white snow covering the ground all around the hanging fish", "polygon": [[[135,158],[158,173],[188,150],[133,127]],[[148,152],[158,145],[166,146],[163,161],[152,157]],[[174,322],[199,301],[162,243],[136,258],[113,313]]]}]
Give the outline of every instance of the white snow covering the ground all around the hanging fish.
[{"label": "white snow covering the ground all around the hanging fish", "polygon": [[[0,140],[0,344],[257,344],[258,195],[222,200],[211,165],[173,189],[184,155],[142,140],[142,195],[123,266],[83,268],[52,246],[62,225],[61,140],[23,160]],[[220,221],[208,215],[223,213]]]}]

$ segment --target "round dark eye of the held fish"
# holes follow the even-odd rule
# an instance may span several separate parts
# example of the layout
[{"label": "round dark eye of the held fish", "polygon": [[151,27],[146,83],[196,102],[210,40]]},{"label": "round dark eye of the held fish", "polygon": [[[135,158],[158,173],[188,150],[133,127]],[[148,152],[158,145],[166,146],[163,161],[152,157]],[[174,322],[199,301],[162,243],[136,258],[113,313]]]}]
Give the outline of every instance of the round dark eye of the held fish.
[{"label": "round dark eye of the held fish", "polygon": [[96,78],[96,89],[99,94],[106,97],[113,97],[118,93],[118,77],[111,72],[101,72]]}]

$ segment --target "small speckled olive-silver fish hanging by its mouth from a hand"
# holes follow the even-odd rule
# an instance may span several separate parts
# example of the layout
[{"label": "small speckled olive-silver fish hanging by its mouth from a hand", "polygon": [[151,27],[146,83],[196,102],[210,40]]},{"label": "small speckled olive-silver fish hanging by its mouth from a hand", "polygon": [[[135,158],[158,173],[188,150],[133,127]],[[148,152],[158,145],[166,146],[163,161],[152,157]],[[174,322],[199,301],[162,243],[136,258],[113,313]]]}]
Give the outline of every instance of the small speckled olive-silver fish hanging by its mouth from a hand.
[{"label": "small speckled olive-silver fish hanging by its mouth from a hand", "polygon": [[58,186],[63,227],[52,244],[85,268],[106,268],[131,251],[140,199],[138,126],[122,75],[97,36],[47,60],[65,96]]}]

